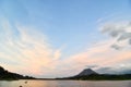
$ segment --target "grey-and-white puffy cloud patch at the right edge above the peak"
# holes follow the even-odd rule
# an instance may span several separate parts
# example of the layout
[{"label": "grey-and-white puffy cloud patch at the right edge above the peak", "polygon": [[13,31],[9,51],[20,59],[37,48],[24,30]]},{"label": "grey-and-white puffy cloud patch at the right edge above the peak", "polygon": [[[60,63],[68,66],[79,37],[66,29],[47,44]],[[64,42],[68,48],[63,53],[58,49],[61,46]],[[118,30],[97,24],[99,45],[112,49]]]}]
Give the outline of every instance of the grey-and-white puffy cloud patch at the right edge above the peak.
[{"label": "grey-and-white puffy cloud patch at the right edge above the peak", "polygon": [[112,44],[111,47],[117,50],[131,46],[131,23],[130,22],[105,24],[103,26],[102,32],[105,34],[108,34],[114,39],[116,39],[115,44]]}]

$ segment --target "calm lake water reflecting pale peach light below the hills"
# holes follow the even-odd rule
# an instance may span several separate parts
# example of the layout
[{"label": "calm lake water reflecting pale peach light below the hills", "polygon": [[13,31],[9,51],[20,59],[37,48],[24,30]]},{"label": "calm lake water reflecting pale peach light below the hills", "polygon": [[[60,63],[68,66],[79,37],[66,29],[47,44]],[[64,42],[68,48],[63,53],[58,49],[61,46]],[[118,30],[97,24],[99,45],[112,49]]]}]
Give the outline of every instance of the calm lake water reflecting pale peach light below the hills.
[{"label": "calm lake water reflecting pale peach light below the hills", "polygon": [[0,80],[0,87],[131,87],[131,80]]}]

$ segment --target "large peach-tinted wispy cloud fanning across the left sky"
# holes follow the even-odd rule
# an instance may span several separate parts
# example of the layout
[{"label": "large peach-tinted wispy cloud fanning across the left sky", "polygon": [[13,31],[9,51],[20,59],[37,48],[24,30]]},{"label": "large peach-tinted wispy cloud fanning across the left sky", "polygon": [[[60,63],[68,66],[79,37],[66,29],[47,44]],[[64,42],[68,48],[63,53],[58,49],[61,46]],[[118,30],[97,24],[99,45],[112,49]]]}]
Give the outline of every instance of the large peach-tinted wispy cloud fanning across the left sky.
[{"label": "large peach-tinted wispy cloud fanning across the left sky", "polygon": [[53,49],[44,34],[17,23],[12,25],[7,18],[0,23],[4,33],[0,34],[0,63],[3,66],[28,75],[46,75],[56,67],[61,50]]}]

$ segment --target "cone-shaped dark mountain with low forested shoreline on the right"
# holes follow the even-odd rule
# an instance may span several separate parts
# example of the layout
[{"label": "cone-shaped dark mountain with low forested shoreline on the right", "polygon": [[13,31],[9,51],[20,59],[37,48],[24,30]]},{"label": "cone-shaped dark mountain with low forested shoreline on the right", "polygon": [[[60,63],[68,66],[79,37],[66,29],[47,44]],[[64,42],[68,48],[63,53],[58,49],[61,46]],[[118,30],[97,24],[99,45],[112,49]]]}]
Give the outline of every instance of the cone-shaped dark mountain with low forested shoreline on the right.
[{"label": "cone-shaped dark mountain with low forested shoreline on the right", "polygon": [[131,79],[131,74],[98,74],[91,69],[85,69],[81,73],[70,77],[62,77],[57,79],[81,79],[81,80],[123,80]]}]

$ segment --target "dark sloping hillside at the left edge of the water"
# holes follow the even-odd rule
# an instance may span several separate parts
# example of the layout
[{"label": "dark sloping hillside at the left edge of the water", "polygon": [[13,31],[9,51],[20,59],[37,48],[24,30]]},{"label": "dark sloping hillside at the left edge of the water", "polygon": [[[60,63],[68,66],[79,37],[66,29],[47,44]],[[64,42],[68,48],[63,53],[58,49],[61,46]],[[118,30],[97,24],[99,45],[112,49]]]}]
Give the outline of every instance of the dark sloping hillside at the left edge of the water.
[{"label": "dark sloping hillside at the left edge of the water", "polygon": [[34,79],[34,77],[12,73],[0,66],[0,79]]}]

